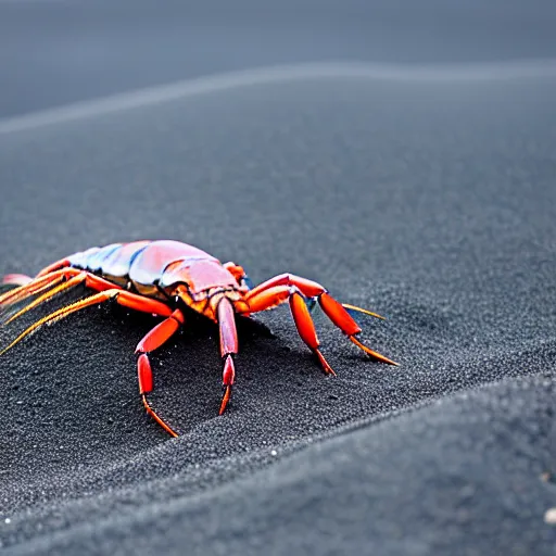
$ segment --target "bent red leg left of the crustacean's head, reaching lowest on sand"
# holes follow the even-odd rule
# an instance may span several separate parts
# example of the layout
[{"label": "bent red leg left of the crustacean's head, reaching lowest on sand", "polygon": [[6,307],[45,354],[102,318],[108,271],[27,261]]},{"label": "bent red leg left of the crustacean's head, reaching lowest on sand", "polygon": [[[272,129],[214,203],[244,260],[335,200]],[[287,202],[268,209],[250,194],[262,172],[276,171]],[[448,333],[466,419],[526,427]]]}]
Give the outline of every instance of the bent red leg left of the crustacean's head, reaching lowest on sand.
[{"label": "bent red leg left of the crustacean's head, reaching lowest on sand", "polygon": [[135,353],[139,353],[137,359],[137,376],[139,379],[139,394],[143,402],[147,413],[172,437],[177,437],[175,432],[161,417],[159,417],[147,400],[147,394],[152,392],[153,377],[149,353],[157,350],[163,343],[169,340],[176,330],[184,324],[181,311],[176,309],[172,315],[157,324],[147,336],[137,344]]}]

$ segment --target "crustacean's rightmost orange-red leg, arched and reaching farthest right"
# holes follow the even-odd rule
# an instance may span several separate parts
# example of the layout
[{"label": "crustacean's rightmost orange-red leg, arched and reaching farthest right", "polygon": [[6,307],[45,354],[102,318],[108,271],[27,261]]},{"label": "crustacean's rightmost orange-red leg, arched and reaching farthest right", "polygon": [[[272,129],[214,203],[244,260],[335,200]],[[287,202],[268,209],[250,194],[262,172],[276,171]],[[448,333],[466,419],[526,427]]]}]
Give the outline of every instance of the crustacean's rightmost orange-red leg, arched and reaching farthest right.
[{"label": "crustacean's rightmost orange-red leg, arched and reaching farthest right", "polygon": [[[328,293],[328,291],[318,282],[314,282],[313,280],[307,280],[306,278],[302,278],[300,276],[295,276],[292,274],[282,274],[274,278],[270,278],[269,280],[258,285],[256,288],[253,288],[245,295],[245,301],[251,305],[251,300],[277,286],[293,286],[298,288],[301,291],[301,293],[303,293],[303,295],[305,295],[306,298],[317,298],[320,307],[328,316],[328,318],[338,328],[340,328],[340,330],[342,330],[342,332],[345,336],[348,336],[348,338],[355,345],[357,345],[357,348],[363,350],[367,355],[374,357],[375,359],[378,359],[382,363],[388,363],[389,365],[397,365],[397,363],[393,362],[392,359],[389,359],[388,357],[384,357],[380,353],[370,350],[355,338],[355,334],[358,334],[362,331],[359,326],[350,316],[350,314],[345,311],[342,304],[336,301]],[[365,312],[364,309],[362,311]]]}]

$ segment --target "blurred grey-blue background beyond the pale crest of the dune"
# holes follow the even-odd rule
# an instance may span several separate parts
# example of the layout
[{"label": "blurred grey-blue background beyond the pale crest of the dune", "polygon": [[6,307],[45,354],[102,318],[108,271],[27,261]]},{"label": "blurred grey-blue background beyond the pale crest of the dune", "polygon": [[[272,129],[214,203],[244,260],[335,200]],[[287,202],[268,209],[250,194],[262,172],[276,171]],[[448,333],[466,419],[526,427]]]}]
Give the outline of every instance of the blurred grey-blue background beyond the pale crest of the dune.
[{"label": "blurred grey-blue background beyond the pale crest of the dune", "polygon": [[0,118],[267,65],[556,56],[552,0],[0,0]]}]

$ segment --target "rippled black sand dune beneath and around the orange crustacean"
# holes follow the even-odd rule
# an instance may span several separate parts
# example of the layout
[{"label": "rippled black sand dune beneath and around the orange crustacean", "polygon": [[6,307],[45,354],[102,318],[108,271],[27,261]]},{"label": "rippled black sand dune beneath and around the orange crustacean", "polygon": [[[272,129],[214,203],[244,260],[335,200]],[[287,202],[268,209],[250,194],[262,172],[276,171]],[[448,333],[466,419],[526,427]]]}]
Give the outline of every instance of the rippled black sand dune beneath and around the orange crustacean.
[{"label": "rippled black sand dune beneath and around the orange crustacean", "polygon": [[[90,308],[0,359],[8,554],[553,554],[556,78],[239,87],[0,136],[0,271],[174,238],[388,316],[370,362],[287,308],[241,326],[217,417],[192,320],[137,395],[154,319]],[[83,291],[75,292],[81,295]],[[5,344],[33,317],[2,329]]]}]

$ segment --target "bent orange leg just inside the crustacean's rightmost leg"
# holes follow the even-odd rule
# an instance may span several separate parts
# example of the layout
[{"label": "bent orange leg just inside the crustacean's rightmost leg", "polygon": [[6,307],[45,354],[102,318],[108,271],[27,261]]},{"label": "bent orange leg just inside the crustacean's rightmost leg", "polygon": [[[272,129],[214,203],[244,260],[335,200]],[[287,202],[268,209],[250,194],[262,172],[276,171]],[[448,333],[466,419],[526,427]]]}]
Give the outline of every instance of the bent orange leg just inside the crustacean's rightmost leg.
[{"label": "bent orange leg just inside the crustacean's rightmost leg", "polygon": [[305,344],[313,351],[318,357],[318,361],[325,370],[329,375],[336,375],[332,367],[325,359],[325,356],[320,353],[317,332],[315,330],[315,324],[305,304],[305,300],[299,293],[299,290],[293,286],[273,286],[268,289],[258,290],[254,295],[248,296],[248,303],[251,313],[257,313],[260,311],[266,311],[275,307],[280,303],[283,303],[287,299],[290,300],[291,314],[295,328],[305,342]]}]

